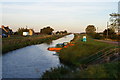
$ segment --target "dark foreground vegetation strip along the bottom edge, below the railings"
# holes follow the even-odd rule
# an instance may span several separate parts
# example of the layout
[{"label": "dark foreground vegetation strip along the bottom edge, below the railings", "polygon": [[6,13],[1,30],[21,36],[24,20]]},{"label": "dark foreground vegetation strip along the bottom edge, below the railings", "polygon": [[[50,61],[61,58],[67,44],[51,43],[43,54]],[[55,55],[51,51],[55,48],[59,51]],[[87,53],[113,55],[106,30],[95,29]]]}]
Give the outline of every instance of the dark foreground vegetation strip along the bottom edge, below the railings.
[{"label": "dark foreground vegetation strip along the bottom edge, below the railings", "polygon": [[44,80],[47,78],[48,80],[55,79],[64,79],[64,78],[71,78],[75,80],[84,79],[84,78],[93,78],[93,80],[97,80],[99,78],[110,80],[116,80],[120,78],[120,62],[112,62],[112,63],[105,63],[105,64],[97,64],[88,66],[88,68],[83,70],[73,70],[66,67],[58,67],[55,69],[51,69],[46,71],[42,76]]}]

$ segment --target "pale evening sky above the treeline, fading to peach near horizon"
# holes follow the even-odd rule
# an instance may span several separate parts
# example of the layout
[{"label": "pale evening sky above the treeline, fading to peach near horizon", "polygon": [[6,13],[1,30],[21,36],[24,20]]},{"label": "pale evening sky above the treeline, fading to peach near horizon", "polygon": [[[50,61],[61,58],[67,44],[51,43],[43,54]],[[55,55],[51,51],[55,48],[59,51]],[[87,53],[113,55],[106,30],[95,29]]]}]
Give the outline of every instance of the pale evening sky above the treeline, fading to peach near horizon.
[{"label": "pale evening sky above the treeline, fading to peach near horizon", "polygon": [[101,32],[109,14],[118,12],[119,0],[4,0],[1,2],[1,25],[13,31],[28,27],[39,32],[51,26],[55,31],[84,32],[94,25]]}]

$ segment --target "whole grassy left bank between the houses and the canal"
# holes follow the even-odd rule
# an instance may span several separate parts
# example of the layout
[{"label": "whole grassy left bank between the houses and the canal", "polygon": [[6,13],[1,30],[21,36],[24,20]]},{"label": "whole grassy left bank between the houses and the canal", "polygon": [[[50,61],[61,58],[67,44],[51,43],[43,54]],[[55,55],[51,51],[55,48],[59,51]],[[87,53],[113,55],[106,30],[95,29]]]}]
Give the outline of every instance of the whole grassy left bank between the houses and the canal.
[{"label": "whole grassy left bank between the houses and the canal", "polygon": [[[67,35],[67,34],[66,34]],[[36,35],[28,37],[10,37],[2,39],[2,53],[6,53],[12,50],[23,48],[29,45],[49,43],[52,40],[61,38],[65,35]]]}]

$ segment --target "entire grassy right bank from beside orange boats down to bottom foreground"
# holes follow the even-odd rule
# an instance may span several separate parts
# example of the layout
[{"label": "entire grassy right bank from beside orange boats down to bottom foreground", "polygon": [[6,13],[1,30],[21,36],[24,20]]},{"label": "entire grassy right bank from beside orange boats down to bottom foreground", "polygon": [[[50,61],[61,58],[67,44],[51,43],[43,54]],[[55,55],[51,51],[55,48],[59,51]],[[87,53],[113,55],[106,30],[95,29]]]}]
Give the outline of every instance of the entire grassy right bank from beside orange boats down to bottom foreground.
[{"label": "entire grassy right bank from beside orange boats down to bottom foreground", "polygon": [[119,78],[120,62],[99,64],[103,57],[115,53],[112,50],[118,45],[98,42],[89,36],[87,42],[82,42],[82,36],[75,35],[75,46],[64,48],[58,53],[60,61],[67,65],[67,68],[62,66],[51,69],[46,71],[42,78]]}]

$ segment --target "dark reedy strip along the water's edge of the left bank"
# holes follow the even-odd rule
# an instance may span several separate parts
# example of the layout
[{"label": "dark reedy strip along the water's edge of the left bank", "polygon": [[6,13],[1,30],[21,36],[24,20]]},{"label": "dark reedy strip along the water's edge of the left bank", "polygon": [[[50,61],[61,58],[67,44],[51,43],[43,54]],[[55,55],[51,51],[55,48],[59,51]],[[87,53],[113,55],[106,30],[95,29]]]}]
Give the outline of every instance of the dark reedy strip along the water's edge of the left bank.
[{"label": "dark reedy strip along the water's edge of the left bank", "polygon": [[28,42],[22,42],[22,43],[19,43],[19,44],[13,44],[13,45],[8,45],[8,46],[5,46],[5,48],[2,47],[2,54],[6,54],[10,51],[13,51],[13,50],[16,50],[16,49],[20,49],[20,48],[23,48],[23,47],[27,47],[27,46],[30,46],[30,45],[36,45],[36,44],[42,44],[42,43],[45,43],[45,42],[50,42],[52,40],[56,40],[56,39],[59,39],[59,38],[62,38],[64,36],[67,36],[67,35],[70,35],[71,33],[68,33],[68,34],[64,34],[64,35],[52,35],[50,37],[45,37],[45,38],[41,38],[41,39],[35,39],[34,41],[30,41],[28,40]]}]

